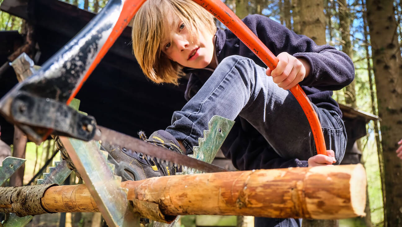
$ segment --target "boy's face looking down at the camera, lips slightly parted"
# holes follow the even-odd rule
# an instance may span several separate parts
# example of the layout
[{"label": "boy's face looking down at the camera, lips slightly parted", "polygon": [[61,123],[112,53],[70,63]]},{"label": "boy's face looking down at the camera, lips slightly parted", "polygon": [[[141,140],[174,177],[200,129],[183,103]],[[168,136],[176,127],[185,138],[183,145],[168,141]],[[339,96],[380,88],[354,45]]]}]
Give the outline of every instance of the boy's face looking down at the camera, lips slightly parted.
[{"label": "boy's face looking down at the camera, lips slightly parted", "polygon": [[167,37],[162,38],[161,50],[166,56],[178,64],[190,68],[215,68],[213,54],[213,37],[207,31],[199,31],[197,37],[191,39],[188,27],[178,17],[168,17]]}]

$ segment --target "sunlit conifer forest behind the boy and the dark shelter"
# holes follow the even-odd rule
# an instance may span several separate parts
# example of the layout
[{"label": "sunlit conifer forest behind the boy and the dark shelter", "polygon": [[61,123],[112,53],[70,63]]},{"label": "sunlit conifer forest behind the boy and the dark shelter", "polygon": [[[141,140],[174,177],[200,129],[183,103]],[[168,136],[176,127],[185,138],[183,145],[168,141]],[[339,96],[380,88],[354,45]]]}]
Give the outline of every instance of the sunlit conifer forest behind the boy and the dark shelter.
[{"label": "sunlit conifer forest behind the boy and the dark shelter", "polygon": [[[64,2],[99,12],[107,0]],[[402,226],[402,162],[395,153],[402,138],[401,0],[226,0],[225,3],[241,19],[248,14],[263,14],[319,45],[332,45],[352,58],[355,80],[348,87],[334,91],[333,98],[381,118],[369,122],[367,135],[357,142],[367,171],[369,209],[366,218],[324,225]],[[24,23],[18,17],[0,12],[3,31],[21,32]],[[39,147],[28,144],[27,149],[34,152],[27,152],[33,155],[27,159],[37,161],[27,161],[25,175],[29,176],[25,179],[31,179],[51,157],[53,146],[51,142]]]}]

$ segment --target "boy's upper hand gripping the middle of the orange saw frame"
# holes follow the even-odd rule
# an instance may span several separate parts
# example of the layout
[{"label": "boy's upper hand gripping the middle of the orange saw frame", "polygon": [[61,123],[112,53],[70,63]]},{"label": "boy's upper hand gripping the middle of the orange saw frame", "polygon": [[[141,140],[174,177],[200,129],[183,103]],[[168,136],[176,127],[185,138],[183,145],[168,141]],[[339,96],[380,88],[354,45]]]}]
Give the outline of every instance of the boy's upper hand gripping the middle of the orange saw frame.
[{"label": "boy's upper hand gripping the middle of the orange saw frame", "polygon": [[288,90],[310,74],[310,63],[305,58],[295,58],[286,52],[277,56],[279,62],[274,70],[267,68],[267,76],[272,76],[274,83]]}]

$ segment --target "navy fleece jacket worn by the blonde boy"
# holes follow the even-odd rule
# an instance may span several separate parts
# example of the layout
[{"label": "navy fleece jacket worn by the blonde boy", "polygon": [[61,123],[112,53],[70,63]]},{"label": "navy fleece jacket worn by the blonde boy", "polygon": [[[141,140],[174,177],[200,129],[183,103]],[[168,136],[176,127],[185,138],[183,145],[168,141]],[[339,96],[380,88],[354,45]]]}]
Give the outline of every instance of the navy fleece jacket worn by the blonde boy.
[{"label": "navy fleece jacket worn by the blonde boy", "polygon": [[[312,39],[297,35],[262,15],[249,15],[242,21],[275,56],[287,52],[297,58],[306,58],[311,65],[310,75],[299,85],[317,107],[337,111],[342,116],[338,104],[331,96],[333,90],[345,87],[354,79],[354,66],[349,56],[330,45],[317,45]],[[240,55],[266,68],[265,64],[228,29],[219,29],[216,32],[215,52],[218,62],[227,56]],[[197,93],[213,72],[210,68],[184,68],[183,71],[189,74],[185,93],[187,100]],[[235,121],[234,127],[222,145],[222,151],[227,158],[232,159],[237,169],[307,166],[306,160],[279,157],[265,138],[246,120],[238,117]]]}]

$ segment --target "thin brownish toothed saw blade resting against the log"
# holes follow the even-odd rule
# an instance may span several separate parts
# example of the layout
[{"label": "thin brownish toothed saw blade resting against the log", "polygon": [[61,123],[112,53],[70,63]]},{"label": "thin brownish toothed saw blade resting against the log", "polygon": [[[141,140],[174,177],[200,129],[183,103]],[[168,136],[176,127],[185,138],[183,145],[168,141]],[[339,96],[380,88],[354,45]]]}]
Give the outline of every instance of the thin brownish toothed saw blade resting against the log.
[{"label": "thin brownish toothed saw blade resting against the log", "polygon": [[131,151],[143,153],[147,158],[156,158],[160,162],[170,161],[174,164],[184,165],[189,168],[198,169],[207,173],[229,171],[216,165],[199,161],[187,155],[182,155],[180,153],[155,146],[138,138],[128,136],[103,126],[96,126],[96,133],[93,139],[109,142],[119,147],[125,147]]}]

